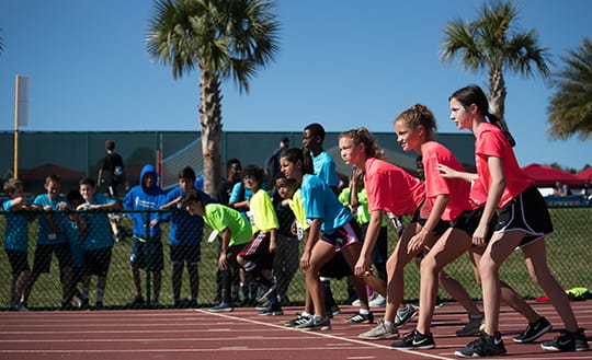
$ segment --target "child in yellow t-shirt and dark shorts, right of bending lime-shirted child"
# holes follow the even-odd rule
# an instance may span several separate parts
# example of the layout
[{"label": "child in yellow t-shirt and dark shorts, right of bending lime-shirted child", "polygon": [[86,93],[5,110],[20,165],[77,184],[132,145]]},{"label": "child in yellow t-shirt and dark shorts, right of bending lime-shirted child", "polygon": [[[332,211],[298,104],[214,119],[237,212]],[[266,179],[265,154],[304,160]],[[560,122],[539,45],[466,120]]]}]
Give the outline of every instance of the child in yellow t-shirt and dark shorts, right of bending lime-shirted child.
[{"label": "child in yellow t-shirt and dark shorts, right of bending lime-shirted child", "polygon": [[270,196],[261,188],[263,167],[248,165],[243,169],[243,174],[247,188],[253,193],[250,200],[251,210],[248,213],[253,227],[253,240],[249,247],[238,255],[237,260],[259,284],[261,295],[257,300],[264,301],[266,298],[270,302],[270,305],[259,314],[283,315],[284,312],[275,292],[276,281],[273,277],[273,253],[277,249],[276,236],[280,224]]}]

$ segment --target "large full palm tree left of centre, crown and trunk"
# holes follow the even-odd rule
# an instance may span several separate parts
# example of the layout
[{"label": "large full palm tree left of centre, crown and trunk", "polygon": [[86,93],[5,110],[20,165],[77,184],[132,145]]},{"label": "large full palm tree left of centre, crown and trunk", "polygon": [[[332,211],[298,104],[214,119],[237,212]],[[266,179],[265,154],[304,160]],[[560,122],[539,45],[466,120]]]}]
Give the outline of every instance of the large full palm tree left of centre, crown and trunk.
[{"label": "large full palm tree left of centre, crown and trunk", "polygon": [[220,183],[223,80],[241,92],[278,50],[280,24],[271,0],[157,0],[146,35],[148,54],[179,79],[200,68],[204,190]]}]

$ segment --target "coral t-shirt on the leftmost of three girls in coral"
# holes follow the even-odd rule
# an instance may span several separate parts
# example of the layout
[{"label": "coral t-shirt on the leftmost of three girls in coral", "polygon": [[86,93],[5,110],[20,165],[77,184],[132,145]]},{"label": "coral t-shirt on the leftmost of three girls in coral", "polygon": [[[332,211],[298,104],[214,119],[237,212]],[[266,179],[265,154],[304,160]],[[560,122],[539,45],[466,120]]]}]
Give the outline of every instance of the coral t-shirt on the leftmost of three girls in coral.
[{"label": "coral t-shirt on the leftmost of three girls in coral", "polygon": [[424,184],[405,170],[376,158],[368,158],[364,165],[369,212],[414,213],[425,199]]}]

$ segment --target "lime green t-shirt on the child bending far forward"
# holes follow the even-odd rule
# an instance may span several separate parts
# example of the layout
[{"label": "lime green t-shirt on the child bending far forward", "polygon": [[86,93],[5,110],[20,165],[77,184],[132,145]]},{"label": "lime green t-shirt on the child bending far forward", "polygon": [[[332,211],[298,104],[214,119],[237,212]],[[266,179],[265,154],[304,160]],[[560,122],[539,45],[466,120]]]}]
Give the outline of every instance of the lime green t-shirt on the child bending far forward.
[{"label": "lime green t-shirt on the child bending far forward", "polygon": [[219,233],[228,228],[231,234],[229,246],[249,243],[253,236],[249,221],[237,210],[220,204],[205,206],[204,221]]}]

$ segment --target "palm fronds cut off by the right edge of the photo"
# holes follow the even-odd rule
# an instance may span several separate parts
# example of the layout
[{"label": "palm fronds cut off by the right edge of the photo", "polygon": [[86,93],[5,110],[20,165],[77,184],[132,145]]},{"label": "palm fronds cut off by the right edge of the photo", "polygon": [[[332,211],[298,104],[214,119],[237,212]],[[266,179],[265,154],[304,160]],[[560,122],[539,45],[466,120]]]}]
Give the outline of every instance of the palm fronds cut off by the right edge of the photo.
[{"label": "palm fronds cut off by the right edge of the photo", "polygon": [[547,107],[547,130],[554,139],[567,139],[579,133],[581,140],[592,132],[592,43],[582,39],[582,45],[568,50],[561,57],[565,67],[551,76],[550,85],[557,88]]}]

